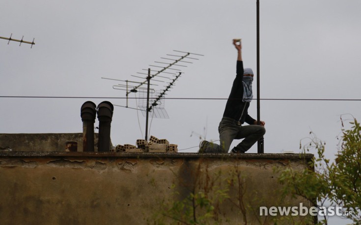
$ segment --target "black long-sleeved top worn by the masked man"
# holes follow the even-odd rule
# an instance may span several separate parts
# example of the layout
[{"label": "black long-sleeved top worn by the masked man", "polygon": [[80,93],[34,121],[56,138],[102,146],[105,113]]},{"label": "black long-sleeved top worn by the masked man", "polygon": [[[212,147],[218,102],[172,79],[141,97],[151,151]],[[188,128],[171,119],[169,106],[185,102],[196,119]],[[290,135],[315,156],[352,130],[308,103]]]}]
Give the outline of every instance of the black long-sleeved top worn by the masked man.
[{"label": "black long-sleeved top worn by the masked man", "polygon": [[235,121],[240,121],[241,124],[246,122],[252,125],[254,119],[248,115],[248,107],[250,102],[242,101],[243,99],[243,62],[237,61],[237,75],[233,81],[231,93],[229,94],[227,103],[225,105],[223,117],[231,118]]}]

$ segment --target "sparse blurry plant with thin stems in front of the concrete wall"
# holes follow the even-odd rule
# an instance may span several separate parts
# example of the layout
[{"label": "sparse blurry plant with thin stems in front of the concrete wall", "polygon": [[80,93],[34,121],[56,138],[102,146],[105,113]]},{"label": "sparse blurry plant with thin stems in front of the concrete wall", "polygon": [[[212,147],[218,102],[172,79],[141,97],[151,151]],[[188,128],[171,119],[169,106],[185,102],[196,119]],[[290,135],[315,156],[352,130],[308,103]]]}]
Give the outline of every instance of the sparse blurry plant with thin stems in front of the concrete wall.
[{"label": "sparse blurry plant with thin stems in front of the concrete wall", "polygon": [[[201,169],[203,165],[203,169]],[[264,224],[267,218],[259,217],[258,208],[252,208],[252,204],[259,200],[254,190],[247,190],[247,175],[240,171],[237,166],[234,170],[222,173],[209,172],[208,165],[199,163],[196,169],[194,183],[186,196],[178,190],[184,190],[183,185],[172,186],[173,198],[163,200],[161,209],[148,220],[148,224],[157,225],[207,225],[207,224],[231,224],[224,211],[225,204],[231,204],[239,210],[243,224],[247,225],[252,214],[259,224]],[[249,198],[246,198],[246,195]],[[232,198],[230,197],[232,196]],[[251,198],[250,198],[251,196]],[[251,202],[250,202],[251,201]],[[260,200],[264,202],[264,199]],[[236,210],[237,211],[237,210]]]}]

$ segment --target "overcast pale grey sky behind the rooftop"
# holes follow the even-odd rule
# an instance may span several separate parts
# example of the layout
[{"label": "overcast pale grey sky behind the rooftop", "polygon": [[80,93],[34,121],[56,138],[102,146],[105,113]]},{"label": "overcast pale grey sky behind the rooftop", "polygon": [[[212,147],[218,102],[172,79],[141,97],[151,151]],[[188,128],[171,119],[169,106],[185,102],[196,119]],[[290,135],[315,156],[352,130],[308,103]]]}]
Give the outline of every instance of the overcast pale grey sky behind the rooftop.
[{"label": "overcast pale grey sky behind the rooftop", "polygon": [[[261,98],[361,99],[360,0],[260,2]],[[131,75],[182,50],[205,56],[183,70],[167,97],[227,98],[236,65],[232,38],[242,38],[245,67],[256,72],[256,0],[5,0],[0,12],[0,36],[24,35],[36,43],[30,49],[0,40],[1,96],[125,97],[112,89],[119,82],[101,77],[137,80]],[[82,132],[80,107],[86,100],[102,101],[0,98],[0,132]],[[361,118],[360,104],[262,100],[265,152],[298,152],[312,130],[332,157],[340,115]],[[224,105],[225,100],[166,99],[170,118],[154,118],[150,134],[178,144],[179,150],[197,146],[199,137],[191,134],[204,136],[204,127],[207,140],[218,140]],[[129,106],[136,107],[135,100]],[[256,101],[249,113],[256,118]],[[141,113],[139,121],[144,136]],[[135,144],[141,131],[136,110],[114,108],[114,145]]]}]

